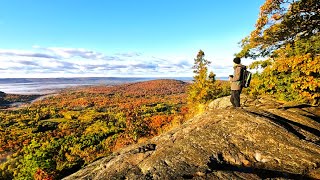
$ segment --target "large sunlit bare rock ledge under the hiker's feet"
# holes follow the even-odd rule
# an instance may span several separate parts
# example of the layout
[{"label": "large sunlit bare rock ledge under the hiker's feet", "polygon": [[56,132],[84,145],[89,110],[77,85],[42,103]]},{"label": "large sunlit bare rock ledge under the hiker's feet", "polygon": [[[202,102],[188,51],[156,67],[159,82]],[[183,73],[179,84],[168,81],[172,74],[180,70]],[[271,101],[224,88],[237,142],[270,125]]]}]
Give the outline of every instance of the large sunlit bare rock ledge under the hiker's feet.
[{"label": "large sunlit bare rock ledge under the hiker's feet", "polygon": [[228,97],[65,179],[320,179],[320,108]]}]

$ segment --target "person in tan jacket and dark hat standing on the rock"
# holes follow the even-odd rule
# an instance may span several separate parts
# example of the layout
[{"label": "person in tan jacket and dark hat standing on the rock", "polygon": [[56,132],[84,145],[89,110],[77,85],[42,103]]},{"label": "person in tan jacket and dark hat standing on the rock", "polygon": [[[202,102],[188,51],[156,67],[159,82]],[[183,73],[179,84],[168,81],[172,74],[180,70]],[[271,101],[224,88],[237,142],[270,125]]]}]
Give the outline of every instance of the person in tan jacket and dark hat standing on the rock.
[{"label": "person in tan jacket and dark hat standing on the rock", "polygon": [[234,62],[234,72],[233,75],[229,76],[229,81],[231,82],[231,97],[230,101],[233,107],[240,107],[240,94],[242,91],[241,86],[241,73],[242,73],[242,65],[241,59],[236,57],[233,59]]}]

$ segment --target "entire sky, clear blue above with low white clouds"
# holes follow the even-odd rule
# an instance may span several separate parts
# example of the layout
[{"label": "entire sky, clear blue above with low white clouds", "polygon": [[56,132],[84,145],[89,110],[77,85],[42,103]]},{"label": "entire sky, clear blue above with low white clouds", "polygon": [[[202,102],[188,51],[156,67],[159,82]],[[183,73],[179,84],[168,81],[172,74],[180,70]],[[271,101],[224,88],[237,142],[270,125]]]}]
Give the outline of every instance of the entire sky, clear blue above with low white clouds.
[{"label": "entire sky, clear blue above with low white clouds", "polygon": [[199,49],[227,76],[263,2],[1,0],[0,76],[191,77]]}]

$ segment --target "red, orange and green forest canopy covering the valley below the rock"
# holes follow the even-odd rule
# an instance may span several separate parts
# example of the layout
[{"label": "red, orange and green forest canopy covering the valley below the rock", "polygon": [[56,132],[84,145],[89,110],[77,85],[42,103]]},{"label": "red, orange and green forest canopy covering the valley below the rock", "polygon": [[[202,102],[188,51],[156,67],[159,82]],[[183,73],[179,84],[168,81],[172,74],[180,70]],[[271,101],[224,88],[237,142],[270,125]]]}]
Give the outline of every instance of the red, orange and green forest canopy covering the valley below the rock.
[{"label": "red, orange and green forest canopy covering the valley below the rock", "polygon": [[179,125],[188,111],[187,86],[153,80],[67,89],[0,110],[0,179],[61,179]]}]

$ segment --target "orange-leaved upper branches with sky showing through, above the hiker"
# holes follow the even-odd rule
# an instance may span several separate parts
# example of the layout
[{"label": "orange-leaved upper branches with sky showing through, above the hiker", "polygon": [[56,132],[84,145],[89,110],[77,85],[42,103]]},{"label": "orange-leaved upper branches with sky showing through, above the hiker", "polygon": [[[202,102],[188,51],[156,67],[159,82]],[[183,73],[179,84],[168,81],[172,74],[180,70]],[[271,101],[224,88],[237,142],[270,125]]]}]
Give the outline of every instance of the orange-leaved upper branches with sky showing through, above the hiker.
[{"label": "orange-leaved upper branches with sky showing through, above the hiker", "polygon": [[260,7],[256,29],[241,42],[240,57],[271,55],[297,39],[319,34],[319,0],[266,0]]}]

